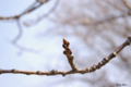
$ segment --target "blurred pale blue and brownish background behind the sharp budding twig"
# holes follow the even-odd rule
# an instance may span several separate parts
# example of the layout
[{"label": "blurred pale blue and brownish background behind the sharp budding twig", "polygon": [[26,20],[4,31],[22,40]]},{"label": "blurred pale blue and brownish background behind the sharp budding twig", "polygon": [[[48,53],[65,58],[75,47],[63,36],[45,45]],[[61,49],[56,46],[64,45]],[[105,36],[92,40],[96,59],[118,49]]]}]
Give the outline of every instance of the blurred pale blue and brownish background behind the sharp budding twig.
[{"label": "blurred pale blue and brownish background behind the sharp budding twig", "polygon": [[[35,0],[0,0],[0,16],[20,14]],[[51,9],[53,10],[47,15]],[[131,36],[130,0],[50,0],[20,18],[0,20],[0,69],[71,70],[62,39],[70,41],[79,69],[97,64]],[[0,87],[131,86],[131,46],[93,73],[38,76],[1,74]]]}]

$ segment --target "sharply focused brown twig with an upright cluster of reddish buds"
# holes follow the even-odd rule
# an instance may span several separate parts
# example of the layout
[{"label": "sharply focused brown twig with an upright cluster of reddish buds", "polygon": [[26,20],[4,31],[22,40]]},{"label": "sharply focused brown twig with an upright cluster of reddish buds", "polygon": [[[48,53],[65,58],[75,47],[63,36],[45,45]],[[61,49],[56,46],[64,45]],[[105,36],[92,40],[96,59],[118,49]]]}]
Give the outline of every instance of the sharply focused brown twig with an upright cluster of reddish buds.
[{"label": "sharply focused brown twig with an upright cluster of reddish buds", "polygon": [[[68,60],[69,60],[69,63],[72,67],[71,71],[57,71],[57,70],[51,70],[51,71],[48,71],[48,72],[43,72],[43,71],[20,71],[20,70],[0,70],[0,74],[5,74],[5,73],[12,73],[12,74],[26,74],[26,75],[58,75],[58,74],[61,74],[62,76],[66,76],[68,74],[74,74],[74,73],[81,73],[81,74],[85,74],[85,73],[91,73],[91,72],[94,72],[96,71],[97,69],[100,69],[102,66],[104,66],[105,64],[107,64],[112,58],[115,58],[124,47],[129,46],[131,44],[131,37],[128,37],[128,39],[122,44],[120,45],[112,53],[110,53],[107,58],[104,58],[100,62],[98,62],[98,64],[94,64],[93,66],[91,67],[87,67],[87,69],[82,69],[82,70],[79,70],[76,69],[75,70],[75,66],[73,66],[70,62],[73,61],[73,59],[71,58],[71,50],[69,49],[69,42],[63,39],[63,48],[66,49],[66,52],[63,52]],[[74,64],[74,63],[73,63]]]}]

